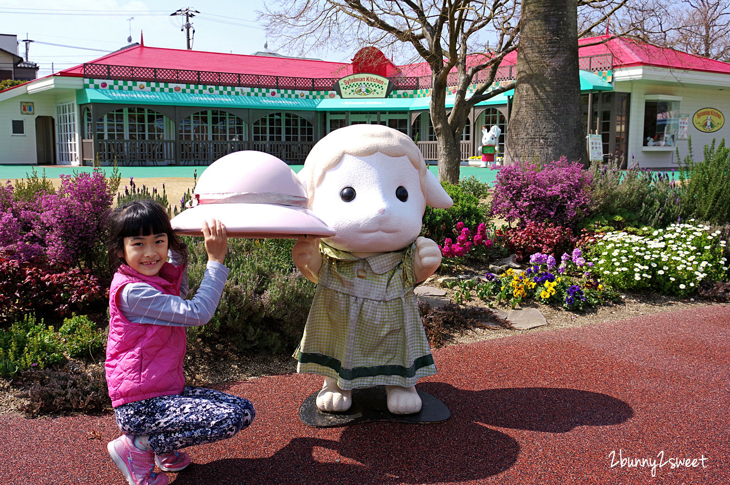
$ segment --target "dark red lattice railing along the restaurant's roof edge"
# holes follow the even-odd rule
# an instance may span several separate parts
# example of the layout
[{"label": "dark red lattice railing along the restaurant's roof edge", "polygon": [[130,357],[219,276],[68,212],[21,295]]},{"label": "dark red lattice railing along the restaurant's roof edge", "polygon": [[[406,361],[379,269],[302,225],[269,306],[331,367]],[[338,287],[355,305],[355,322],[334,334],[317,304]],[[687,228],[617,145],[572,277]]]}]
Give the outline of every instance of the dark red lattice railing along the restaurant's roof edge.
[{"label": "dark red lattice railing along the restaurant's roof edge", "polygon": [[[613,55],[588,55],[578,59],[580,69],[587,71],[606,71],[612,69]],[[487,79],[489,69],[480,71],[474,82],[483,82]],[[495,81],[510,81],[515,79],[516,66],[500,66],[497,69]],[[309,78],[288,76],[264,76],[261,74],[244,74],[218,71],[193,71],[188,69],[163,69],[157,67],[112,66],[111,64],[84,64],[84,77],[89,79],[116,79],[120,81],[145,82],[177,82],[181,84],[235,86],[241,88],[266,89],[299,89],[299,90],[331,90],[337,78]],[[393,77],[393,88],[396,90],[415,90],[431,88],[431,76],[420,77]],[[453,86],[458,82],[458,74],[449,74],[447,85]]]}]

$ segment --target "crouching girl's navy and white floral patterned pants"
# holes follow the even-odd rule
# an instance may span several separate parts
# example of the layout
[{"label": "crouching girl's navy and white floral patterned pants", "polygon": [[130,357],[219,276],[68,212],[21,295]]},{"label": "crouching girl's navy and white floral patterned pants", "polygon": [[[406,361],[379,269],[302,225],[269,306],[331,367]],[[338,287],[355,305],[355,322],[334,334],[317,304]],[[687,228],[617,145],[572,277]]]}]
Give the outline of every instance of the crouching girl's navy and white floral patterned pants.
[{"label": "crouching girl's navy and white floral patterned pants", "polygon": [[122,432],[148,435],[157,454],[231,438],[256,415],[243,397],[192,386],[185,386],[181,395],[123,404],[114,414]]}]

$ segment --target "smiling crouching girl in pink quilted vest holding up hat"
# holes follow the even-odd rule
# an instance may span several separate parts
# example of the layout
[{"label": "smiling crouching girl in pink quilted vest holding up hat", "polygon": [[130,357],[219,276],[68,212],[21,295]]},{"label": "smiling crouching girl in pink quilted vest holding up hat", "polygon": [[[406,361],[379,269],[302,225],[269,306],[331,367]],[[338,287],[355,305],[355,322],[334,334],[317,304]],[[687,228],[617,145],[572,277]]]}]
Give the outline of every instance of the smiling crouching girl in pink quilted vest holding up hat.
[{"label": "smiling crouching girl in pink quilted vest holding up hat", "polygon": [[[109,256],[116,269],[109,295],[107,342],[109,395],[120,430],[107,445],[130,485],[165,485],[163,471],[191,462],[186,446],[231,438],[253,421],[248,400],[185,386],[185,327],[212,317],[228,268],[228,238],[220,221],[205,222],[208,263],[191,300],[185,271],[187,247],[173,233],[165,210],[134,201],[112,211]],[[168,263],[168,257],[172,263]]]}]

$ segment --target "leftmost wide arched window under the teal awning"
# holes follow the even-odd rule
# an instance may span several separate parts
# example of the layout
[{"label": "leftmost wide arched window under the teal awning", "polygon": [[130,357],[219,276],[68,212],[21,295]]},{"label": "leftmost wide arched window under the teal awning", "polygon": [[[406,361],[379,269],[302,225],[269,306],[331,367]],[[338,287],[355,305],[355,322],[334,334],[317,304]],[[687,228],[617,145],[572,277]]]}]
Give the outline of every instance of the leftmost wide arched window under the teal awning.
[{"label": "leftmost wide arched window under the teal awning", "polygon": [[[87,119],[91,119],[91,112]],[[161,140],[164,133],[164,115],[149,108],[120,108],[96,120],[96,138],[100,140]]]}]

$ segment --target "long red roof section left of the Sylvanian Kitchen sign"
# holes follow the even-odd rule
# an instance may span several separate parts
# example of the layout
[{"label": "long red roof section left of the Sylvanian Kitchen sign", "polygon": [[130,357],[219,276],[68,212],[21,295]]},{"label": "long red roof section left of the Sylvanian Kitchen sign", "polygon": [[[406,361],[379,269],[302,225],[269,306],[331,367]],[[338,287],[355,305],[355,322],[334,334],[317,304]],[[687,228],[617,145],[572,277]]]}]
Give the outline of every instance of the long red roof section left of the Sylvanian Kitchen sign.
[{"label": "long red roof section left of the Sylvanian Kitchen sign", "polygon": [[[279,58],[267,55],[209,53],[202,50],[167,49],[142,45],[118,50],[89,61],[89,63],[315,79],[321,77],[339,78],[352,74],[352,67],[349,63]],[[80,64],[61,71],[58,75],[82,77],[83,71],[83,65]]]}]

